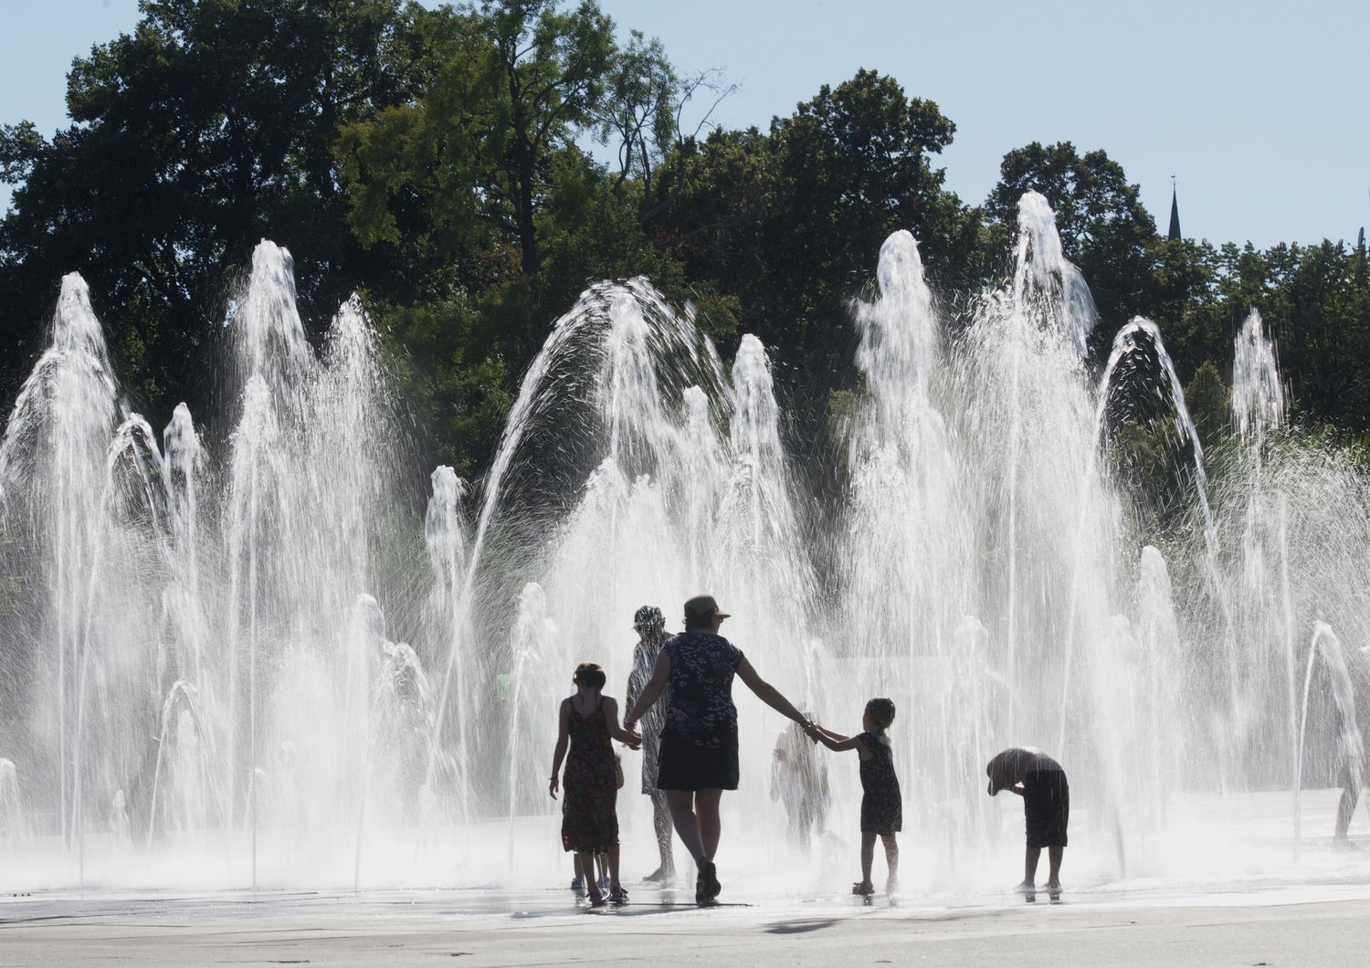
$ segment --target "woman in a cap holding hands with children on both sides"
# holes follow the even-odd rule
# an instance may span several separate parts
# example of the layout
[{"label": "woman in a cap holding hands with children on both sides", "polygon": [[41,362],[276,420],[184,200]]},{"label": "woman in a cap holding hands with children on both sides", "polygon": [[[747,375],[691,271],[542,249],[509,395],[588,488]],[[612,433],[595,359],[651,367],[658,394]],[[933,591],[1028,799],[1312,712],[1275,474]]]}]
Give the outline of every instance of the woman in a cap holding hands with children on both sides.
[{"label": "woman in a cap holding hands with children on both sides", "polygon": [[810,726],[741,649],[718,634],[726,617],[712,596],[685,602],[685,631],[662,648],[652,678],[623,719],[623,728],[632,730],[666,691],[656,786],[666,791],[675,834],[699,867],[695,900],[701,905],[712,904],[721,890],[714,864],[722,832],[718,805],[723,790],[736,790],[738,780],[733,676],[781,715]]}]

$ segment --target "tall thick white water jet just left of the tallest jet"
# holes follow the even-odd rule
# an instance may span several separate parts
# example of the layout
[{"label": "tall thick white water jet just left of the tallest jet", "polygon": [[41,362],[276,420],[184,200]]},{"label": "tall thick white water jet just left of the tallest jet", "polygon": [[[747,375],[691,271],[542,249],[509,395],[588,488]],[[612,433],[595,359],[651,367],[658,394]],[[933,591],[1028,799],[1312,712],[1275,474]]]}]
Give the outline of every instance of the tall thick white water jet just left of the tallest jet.
[{"label": "tall thick white water jet just left of the tallest jet", "polygon": [[[962,634],[966,616],[978,611],[971,528],[940,409],[954,403],[937,379],[947,363],[940,322],[910,233],[896,231],[881,246],[877,281],[877,300],[856,308],[866,393],[848,450],[845,620],[856,644],[852,659],[875,687],[927,711],[908,722],[904,772],[925,774],[930,800],[960,804],[959,816],[973,817],[982,813],[964,802],[975,765],[948,750],[984,738],[982,711],[948,697],[989,689],[988,667],[975,661],[984,639]],[[956,811],[933,820],[948,845],[966,832]]]}]

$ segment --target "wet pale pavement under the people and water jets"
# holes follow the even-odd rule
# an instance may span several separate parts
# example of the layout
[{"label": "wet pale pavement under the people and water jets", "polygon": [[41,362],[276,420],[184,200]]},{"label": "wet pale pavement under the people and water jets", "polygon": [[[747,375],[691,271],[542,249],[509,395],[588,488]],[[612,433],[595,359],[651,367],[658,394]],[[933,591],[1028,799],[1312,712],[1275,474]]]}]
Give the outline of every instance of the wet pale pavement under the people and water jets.
[{"label": "wet pale pavement under the people and water jets", "polygon": [[[1308,791],[1308,819],[1330,823],[1334,798]],[[590,910],[566,889],[566,864],[547,871],[560,878],[555,887],[533,876],[503,886],[506,868],[489,884],[453,890],[38,893],[0,898],[0,945],[15,965],[105,964],[114,950],[138,964],[567,964],[577,952],[596,964],[984,964],[1006,950],[1023,965],[1355,964],[1370,876],[1326,838],[1296,858],[1292,842],[1273,835],[1286,828],[1288,808],[1280,797],[1236,811],[1215,798],[1181,808],[1233,815],[1240,854],[1228,879],[1093,880],[1099,858],[1071,848],[1059,905],[1045,894],[1028,905],[1003,887],[1018,872],[1012,843],[996,858],[997,887],[948,891],[926,882],[919,845],[904,838],[914,883],[870,904],[843,891],[856,860],[847,850],[841,863],[801,865],[799,880],[729,878],[725,897],[738,906],[710,910],[689,904],[686,882],[632,887],[629,874],[632,904]],[[526,823],[533,834],[541,821]],[[625,856],[649,849],[625,839]],[[729,853],[734,869],[756,868],[744,848]]]}]

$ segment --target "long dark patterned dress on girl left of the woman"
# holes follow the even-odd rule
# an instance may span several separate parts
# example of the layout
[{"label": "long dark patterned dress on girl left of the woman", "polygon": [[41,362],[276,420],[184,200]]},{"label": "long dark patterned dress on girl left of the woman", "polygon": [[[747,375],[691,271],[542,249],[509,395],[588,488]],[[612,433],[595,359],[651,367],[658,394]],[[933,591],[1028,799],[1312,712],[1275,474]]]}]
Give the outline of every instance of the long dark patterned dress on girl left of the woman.
[{"label": "long dark patterned dress on girl left of the woman", "polygon": [[562,774],[562,848],[604,853],[618,845],[618,775],[614,746],[604,722],[604,700],[582,716],[571,704],[571,752]]}]

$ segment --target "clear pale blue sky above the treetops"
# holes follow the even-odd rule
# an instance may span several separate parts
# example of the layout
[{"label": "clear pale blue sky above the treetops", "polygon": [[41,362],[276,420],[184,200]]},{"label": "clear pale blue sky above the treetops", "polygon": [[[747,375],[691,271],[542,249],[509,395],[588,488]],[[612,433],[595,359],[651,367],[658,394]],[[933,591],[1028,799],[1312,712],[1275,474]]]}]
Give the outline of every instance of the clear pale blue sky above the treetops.
[{"label": "clear pale blue sky above the treetops", "polygon": [[[1370,225],[1370,0],[600,0],[682,70],[738,93],[715,118],[766,127],[859,67],[956,123],[948,186],[980,203],[1004,152],[1103,148],[1164,229],[1355,238]],[[430,4],[432,5],[432,4]],[[3,0],[0,122],[66,123],[66,71],[129,30],[136,0]],[[4,193],[7,200],[8,193]]]}]

